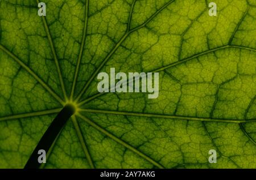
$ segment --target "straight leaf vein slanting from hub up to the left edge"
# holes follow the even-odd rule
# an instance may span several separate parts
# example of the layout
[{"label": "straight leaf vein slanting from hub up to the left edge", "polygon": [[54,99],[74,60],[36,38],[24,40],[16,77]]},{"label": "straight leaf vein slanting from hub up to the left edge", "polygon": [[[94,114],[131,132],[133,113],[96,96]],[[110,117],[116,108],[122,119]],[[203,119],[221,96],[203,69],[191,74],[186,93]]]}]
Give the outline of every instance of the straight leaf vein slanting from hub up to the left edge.
[{"label": "straight leaf vein slanting from hub up to the left edge", "polygon": [[2,49],[6,54],[10,55],[20,66],[24,68],[30,75],[32,75],[57,101],[61,104],[64,104],[64,101],[55,93],[51,88],[48,87],[46,83],[42,79],[39,78],[38,75],[35,74],[27,65],[25,65],[16,55],[11,53],[8,49],[6,49],[3,45],[0,44],[0,49]]}]

